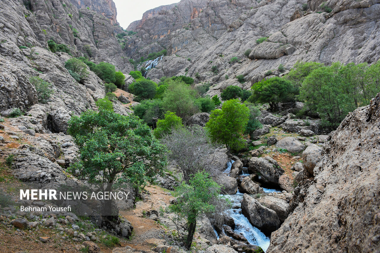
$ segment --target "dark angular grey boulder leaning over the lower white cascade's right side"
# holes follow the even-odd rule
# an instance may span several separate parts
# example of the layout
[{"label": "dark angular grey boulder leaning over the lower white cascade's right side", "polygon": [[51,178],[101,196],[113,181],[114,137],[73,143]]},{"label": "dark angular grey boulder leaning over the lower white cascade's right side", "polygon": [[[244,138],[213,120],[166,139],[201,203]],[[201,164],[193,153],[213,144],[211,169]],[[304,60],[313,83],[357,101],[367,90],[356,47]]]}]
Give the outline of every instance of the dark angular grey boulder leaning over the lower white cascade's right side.
[{"label": "dark angular grey boulder leaning over the lower white cascade's right side", "polygon": [[277,213],[268,207],[264,207],[247,193],[244,193],[241,209],[252,226],[260,229],[266,236],[270,236],[273,231],[280,227]]}]

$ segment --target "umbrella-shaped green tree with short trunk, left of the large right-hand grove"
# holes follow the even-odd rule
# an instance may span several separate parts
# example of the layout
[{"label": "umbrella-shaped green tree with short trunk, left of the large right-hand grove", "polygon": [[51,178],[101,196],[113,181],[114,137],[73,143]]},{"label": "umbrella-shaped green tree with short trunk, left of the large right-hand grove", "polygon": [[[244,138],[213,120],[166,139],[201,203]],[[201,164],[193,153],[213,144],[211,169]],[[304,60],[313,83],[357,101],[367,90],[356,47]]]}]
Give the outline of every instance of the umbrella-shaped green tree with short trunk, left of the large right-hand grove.
[{"label": "umbrella-shaped green tree with short trunk, left of the large right-hand grove", "polygon": [[251,89],[252,98],[261,103],[269,103],[272,112],[277,110],[280,102],[290,101],[296,93],[290,81],[277,76],[256,82]]}]

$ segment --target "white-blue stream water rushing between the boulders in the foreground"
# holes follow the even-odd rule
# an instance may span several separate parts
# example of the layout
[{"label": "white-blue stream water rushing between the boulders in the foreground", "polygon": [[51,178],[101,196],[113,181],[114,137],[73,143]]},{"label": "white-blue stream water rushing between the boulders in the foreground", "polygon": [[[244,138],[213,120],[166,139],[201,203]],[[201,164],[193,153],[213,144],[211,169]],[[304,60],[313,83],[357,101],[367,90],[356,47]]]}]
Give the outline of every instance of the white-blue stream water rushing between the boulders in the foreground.
[{"label": "white-blue stream water rushing between the boulders in the foreground", "polygon": [[[227,163],[227,168],[225,169],[225,173],[230,173],[231,171],[231,166],[234,163],[233,160],[229,161]],[[243,167],[242,175],[241,176],[249,176],[248,174],[248,169],[246,167]],[[278,192],[277,190],[274,189],[267,189],[264,188],[265,193],[270,193],[270,192]],[[254,226],[249,223],[249,220],[247,217],[245,217],[242,214],[241,211],[241,201],[243,199],[243,193],[241,193],[239,190],[237,191],[236,194],[233,195],[226,195],[227,198],[230,199],[232,202],[232,206],[240,207],[239,209],[230,209],[228,210],[228,213],[230,214],[231,218],[234,219],[235,221],[235,229],[234,231],[237,234],[242,234],[250,244],[252,245],[258,245],[260,246],[264,251],[266,251],[269,247],[269,237],[266,237],[263,232],[261,232],[258,228],[255,228]],[[215,230],[214,230],[215,231]],[[217,235],[218,239],[219,236],[217,232],[215,231],[215,234]]]}]

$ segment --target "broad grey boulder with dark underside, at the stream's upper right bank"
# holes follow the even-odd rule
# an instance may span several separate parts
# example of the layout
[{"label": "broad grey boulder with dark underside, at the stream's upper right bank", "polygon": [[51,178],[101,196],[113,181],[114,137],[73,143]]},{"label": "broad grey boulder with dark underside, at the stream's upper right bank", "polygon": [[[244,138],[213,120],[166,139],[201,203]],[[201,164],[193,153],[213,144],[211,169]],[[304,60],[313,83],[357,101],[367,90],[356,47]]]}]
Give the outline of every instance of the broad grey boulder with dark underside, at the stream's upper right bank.
[{"label": "broad grey boulder with dark underside, at the stream's upper right bank", "polygon": [[271,157],[252,157],[248,163],[248,171],[258,174],[259,182],[278,185],[279,177],[285,172]]}]

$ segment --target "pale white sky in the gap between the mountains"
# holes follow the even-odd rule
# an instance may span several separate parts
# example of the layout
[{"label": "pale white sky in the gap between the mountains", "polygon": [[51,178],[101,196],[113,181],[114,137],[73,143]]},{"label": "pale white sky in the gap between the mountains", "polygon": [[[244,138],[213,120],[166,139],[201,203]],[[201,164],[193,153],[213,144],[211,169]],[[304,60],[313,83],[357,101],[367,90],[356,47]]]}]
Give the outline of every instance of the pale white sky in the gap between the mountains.
[{"label": "pale white sky in the gap between the mountains", "polygon": [[117,22],[124,29],[135,20],[139,20],[142,14],[149,9],[161,5],[178,3],[179,0],[114,0],[117,9]]}]

